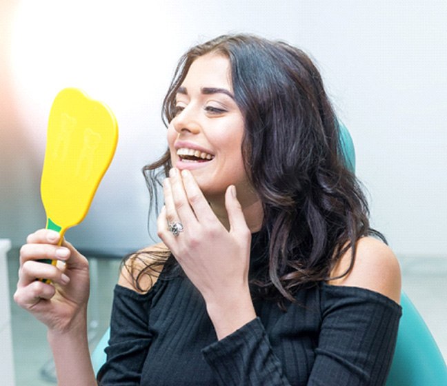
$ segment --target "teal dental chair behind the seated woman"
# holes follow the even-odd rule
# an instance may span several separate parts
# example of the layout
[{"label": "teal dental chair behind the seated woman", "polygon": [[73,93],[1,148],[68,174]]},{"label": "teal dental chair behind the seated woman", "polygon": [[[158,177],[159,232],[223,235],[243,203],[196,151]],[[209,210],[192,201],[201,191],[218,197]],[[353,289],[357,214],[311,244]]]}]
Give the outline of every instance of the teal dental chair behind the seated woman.
[{"label": "teal dental chair behind the seated woman", "polygon": [[[355,150],[348,129],[340,124],[342,150],[350,170],[355,170]],[[403,314],[386,386],[447,386],[447,366],[426,323],[406,294],[401,294]],[[95,374],[106,362],[106,331],[92,352]]]}]

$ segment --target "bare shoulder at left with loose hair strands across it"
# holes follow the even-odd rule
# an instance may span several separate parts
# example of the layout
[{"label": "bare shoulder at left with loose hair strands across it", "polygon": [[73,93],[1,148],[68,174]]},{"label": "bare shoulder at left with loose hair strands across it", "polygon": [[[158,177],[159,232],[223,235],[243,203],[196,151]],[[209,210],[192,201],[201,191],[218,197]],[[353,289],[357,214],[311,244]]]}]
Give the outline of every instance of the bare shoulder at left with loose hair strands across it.
[{"label": "bare shoulder at left with loose hair strands across it", "polygon": [[[168,252],[168,247],[164,243],[158,243],[132,254],[121,267],[118,284],[135,292],[148,292],[163,268],[161,256]],[[145,270],[148,265],[151,265],[151,268]],[[136,279],[139,288],[135,286]]]}]

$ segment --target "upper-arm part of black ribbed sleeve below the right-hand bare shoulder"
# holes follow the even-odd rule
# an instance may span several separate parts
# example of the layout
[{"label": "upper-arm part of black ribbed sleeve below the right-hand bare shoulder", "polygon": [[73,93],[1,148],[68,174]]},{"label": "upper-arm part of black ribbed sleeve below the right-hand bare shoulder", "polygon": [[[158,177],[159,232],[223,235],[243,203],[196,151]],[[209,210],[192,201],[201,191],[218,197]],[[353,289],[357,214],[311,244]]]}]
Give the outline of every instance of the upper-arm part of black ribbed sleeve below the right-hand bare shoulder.
[{"label": "upper-arm part of black ribbed sleeve below the right-hand bare shoulder", "polygon": [[335,285],[324,285],[321,304],[319,344],[308,385],[385,385],[401,307],[377,292]]}]

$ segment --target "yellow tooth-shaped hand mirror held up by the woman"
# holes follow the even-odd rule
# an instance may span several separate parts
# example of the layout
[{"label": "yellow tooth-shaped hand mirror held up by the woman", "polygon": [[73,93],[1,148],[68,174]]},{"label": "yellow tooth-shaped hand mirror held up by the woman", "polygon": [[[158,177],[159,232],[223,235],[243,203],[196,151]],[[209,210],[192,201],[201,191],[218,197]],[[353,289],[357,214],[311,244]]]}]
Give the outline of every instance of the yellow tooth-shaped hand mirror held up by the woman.
[{"label": "yellow tooth-shaped hand mirror held up by the woman", "polygon": [[47,229],[63,236],[84,219],[117,141],[117,121],[106,105],[76,88],[57,94],[48,119],[41,178]]}]

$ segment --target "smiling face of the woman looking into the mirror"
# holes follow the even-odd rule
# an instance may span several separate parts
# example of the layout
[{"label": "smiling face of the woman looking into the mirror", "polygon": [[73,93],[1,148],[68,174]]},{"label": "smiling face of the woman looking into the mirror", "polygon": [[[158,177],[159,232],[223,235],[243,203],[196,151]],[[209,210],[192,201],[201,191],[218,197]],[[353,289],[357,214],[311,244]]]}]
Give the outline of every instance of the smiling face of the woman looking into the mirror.
[{"label": "smiling face of the woman looking into the mirror", "polygon": [[231,184],[240,201],[252,199],[241,154],[244,116],[233,96],[230,61],[219,54],[196,59],[176,107],[168,127],[172,165],[190,170],[208,200],[221,197]]}]

